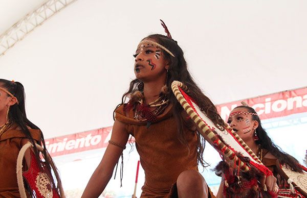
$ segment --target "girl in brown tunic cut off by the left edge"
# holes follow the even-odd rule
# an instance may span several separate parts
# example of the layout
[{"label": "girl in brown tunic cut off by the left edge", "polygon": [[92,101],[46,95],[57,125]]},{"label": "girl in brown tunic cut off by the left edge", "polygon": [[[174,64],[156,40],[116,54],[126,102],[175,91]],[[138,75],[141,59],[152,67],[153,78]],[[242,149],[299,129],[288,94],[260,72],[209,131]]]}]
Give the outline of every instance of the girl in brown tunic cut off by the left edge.
[{"label": "girl in brown tunic cut off by the left edge", "polygon": [[[43,135],[26,116],[24,86],[19,82],[0,79],[0,197],[20,197],[16,163],[21,147],[27,142],[34,145],[31,150],[36,161],[43,164],[42,166],[50,172],[49,162],[41,161],[35,146],[35,143],[43,145],[42,155],[46,156]],[[32,162],[30,150],[25,153],[25,159],[23,171],[33,166],[30,166]],[[55,186],[51,183],[50,187]],[[26,190],[27,195],[32,197],[32,189],[28,185],[26,185]]]}]

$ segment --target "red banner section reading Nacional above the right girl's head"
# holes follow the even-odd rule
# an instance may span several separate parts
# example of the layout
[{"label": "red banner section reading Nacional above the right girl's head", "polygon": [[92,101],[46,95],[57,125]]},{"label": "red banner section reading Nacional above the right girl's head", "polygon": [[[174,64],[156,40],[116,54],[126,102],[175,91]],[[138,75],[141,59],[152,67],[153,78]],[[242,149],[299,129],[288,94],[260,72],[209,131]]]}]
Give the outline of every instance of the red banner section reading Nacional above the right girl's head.
[{"label": "red banner section reading Nacional above the right girl's head", "polygon": [[225,103],[217,105],[216,108],[222,118],[226,120],[230,111],[240,106],[242,101],[253,107],[260,119],[307,112],[307,87]]}]

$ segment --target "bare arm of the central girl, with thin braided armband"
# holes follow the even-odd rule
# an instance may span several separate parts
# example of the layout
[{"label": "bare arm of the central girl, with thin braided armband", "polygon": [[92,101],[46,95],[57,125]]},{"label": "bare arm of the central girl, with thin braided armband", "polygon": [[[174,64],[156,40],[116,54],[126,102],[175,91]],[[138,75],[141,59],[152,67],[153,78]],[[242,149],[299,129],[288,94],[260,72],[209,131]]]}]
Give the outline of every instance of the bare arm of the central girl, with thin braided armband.
[{"label": "bare arm of the central girl, with thin braided armband", "polygon": [[[128,137],[129,134],[126,130],[126,125],[115,120],[111,140],[118,144],[126,145]],[[98,197],[103,192],[105,186],[112,177],[114,167],[122,152],[122,148],[113,144],[108,144],[102,160],[94,171],[89,183],[87,183],[82,197]]]}]

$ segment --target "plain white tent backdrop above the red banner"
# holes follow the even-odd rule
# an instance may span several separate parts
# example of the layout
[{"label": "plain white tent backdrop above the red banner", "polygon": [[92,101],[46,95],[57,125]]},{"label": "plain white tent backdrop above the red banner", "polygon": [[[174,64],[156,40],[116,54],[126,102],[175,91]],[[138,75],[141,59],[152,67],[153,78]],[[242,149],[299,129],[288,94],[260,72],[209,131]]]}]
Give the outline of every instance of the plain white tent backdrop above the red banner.
[{"label": "plain white tent backdrop above the red banner", "polygon": [[215,104],[303,87],[306,9],[281,0],[78,0],[0,57],[0,78],[25,85],[28,116],[46,138],[111,126],[134,78],[131,55],[143,37],[164,34],[162,18]]}]

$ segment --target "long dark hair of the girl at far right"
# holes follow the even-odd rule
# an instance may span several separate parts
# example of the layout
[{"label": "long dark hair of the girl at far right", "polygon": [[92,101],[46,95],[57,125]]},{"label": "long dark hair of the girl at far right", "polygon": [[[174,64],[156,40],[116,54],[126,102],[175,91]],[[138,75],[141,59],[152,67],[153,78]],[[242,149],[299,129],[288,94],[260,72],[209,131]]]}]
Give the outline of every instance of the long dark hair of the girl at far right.
[{"label": "long dark hair of the girl at far right", "polygon": [[[238,106],[236,108],[245,108],[250,113],[256,113],[252,107],[248,106]],[[236,109],[234,108],[234,109]],[[266,130],[262,128],[261,121],[258,115],[252,115],[252,119],[256,120],[259,123],[259,126],[256,129],[257,136],[259,140],[256,140],[257,144],[260,144],[262,148],[268,150],[273,156],[275,156],[281,164],[286,164],[292,170],[296,172],[302,172],[302,167],[299,162],[292,157],[291,155],[283,152],[279,146],[277,146],[271,138],[268,136]]]}]

